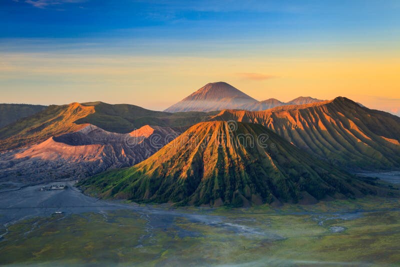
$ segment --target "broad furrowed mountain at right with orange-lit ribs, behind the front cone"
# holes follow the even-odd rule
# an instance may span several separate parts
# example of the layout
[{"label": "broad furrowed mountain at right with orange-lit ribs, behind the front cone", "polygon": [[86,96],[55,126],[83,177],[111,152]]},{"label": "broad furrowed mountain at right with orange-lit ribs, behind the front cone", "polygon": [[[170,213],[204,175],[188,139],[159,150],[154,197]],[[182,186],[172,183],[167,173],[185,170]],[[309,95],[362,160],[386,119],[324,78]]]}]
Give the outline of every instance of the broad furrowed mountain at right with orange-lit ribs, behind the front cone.
[{"label": "broad furrowed mountain at right with orange-lit ribs, behind the front cone", "polygon": [[400,167],[400,117],[345,97],[265,111],[223,110],[213,119],[260,123],[338,166]]}]

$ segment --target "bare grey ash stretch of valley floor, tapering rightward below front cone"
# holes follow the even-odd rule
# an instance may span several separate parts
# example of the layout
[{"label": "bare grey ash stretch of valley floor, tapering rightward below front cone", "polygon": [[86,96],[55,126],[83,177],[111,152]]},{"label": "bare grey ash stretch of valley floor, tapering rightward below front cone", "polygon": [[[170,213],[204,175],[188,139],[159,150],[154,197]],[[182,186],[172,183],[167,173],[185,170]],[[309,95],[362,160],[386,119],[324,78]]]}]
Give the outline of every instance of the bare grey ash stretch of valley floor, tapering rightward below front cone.
[{"label": "bare grey ash stretch of valley floor, tapering rightward below front cone", "polygon": [[[142,214],[151,228],[165,228],[171,226],[176,218],[185,217],[193,222],[204,223],[222,227],[242,234],[263,234],[268,238],[281,238],[268,232],[259,232],[257,229],[236,223],[222,216],[208,215],[203,212],[186,212],[184,209],[170,208],[168,205],[152,206],[138,205],[135,203],[122,203],[116,200],[100,200],[81,193],[74,187],[75,180],[58,181],[20,188],[8,189],[0,192],[0,224],[6,228],[8,225],[20,220],[35,216],[50,216],[55,212],[63,214],[79,214],[96,212],[106,214],[107,211],[123,209],[127,212]],[[43,186],[52,184],[65,184],[66,189],[40,191]],[[199,209],[207,210],[207,209]],[[208,209],[211,211],[211,209]],[[183,235],[195,233],[180,230]]]}]

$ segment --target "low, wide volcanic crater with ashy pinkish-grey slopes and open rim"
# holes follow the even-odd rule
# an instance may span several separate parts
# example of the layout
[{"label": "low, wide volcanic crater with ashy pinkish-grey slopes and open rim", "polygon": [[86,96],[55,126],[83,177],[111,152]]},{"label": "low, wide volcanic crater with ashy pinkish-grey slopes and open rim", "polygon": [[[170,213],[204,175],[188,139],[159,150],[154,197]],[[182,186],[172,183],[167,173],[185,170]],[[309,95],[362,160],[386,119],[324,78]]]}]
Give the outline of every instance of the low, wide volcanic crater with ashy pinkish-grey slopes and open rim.
[{"label": "low, wide volcanic crater with ashy pinkish-grey slopes and open rim", "polygon": [[90,176],[138,163],[179,135],[170,127],[143,126],[130,133],[94,125],[0,154],[0,179],[38,182]]}]

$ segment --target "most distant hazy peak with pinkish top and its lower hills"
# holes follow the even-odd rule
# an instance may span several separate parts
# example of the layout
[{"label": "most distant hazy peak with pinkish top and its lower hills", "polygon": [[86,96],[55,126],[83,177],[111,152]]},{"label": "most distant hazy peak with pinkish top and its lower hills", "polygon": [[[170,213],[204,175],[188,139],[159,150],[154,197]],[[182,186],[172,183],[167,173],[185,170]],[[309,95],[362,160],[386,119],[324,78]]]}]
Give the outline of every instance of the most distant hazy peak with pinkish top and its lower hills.
[{"label": "most distant hazy peak with pinkish top and its lower hills", "polygon": [[322,100],[300,96],[287,103],[270,98],[257,101],[226,82],[211,82],[164,111],[211,111],[222,109],[265,110],[275,106],[314,103]]}]

